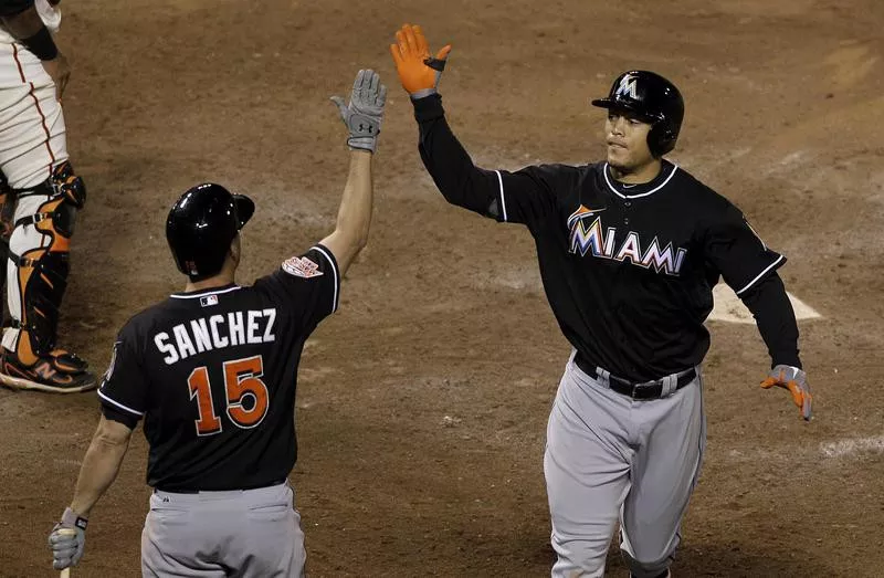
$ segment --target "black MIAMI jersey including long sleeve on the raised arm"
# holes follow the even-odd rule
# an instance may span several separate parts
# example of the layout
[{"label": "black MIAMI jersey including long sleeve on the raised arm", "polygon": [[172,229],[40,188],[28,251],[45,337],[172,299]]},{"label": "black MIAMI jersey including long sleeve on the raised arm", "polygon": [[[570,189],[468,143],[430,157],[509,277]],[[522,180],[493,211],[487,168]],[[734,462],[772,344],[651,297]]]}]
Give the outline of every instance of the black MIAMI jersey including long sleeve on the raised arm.
[{"label": "black MIAMI jersey including long sleeve on the raised arm", "polygon": [[739,209],[669,161],[634,186],[617,181],[607,162],[485,170],[451,133],[441,97],[421,98],[414,111],[421,158],[440,191],[527,225],[564,335],[614,376],[644,381],[698,365],[719,279],[744,296],[786,262]]}]

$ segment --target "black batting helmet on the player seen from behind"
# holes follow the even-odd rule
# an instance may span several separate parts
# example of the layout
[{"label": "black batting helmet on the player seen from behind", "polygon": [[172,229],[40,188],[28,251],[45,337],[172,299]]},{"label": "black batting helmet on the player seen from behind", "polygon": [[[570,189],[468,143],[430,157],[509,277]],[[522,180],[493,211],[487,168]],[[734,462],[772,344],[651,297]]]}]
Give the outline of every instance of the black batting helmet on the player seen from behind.
[{"label": "black batting helmet on the player seen from behind", "polygon": [[204,182],[188,189],[169,211],[166,240],[178,270],[192,281],[221,271],[230,243],[255,212],[244,195]]}]

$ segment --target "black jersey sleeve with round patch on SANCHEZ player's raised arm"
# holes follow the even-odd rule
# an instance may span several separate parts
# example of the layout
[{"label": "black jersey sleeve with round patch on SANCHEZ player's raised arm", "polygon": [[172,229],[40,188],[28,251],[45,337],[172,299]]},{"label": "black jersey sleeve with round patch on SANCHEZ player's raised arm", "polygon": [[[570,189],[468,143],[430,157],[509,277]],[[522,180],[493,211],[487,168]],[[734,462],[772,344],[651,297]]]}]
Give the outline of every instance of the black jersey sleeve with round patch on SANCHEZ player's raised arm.
[{"label": "black jersey sleeve with round patch on SANCHEZ player's raised arm", "polygon": [[302,330],[311,332],[338,309],[340,272],[335,255],[316,244],[303,255],[283,261],[278,270],[255,282],[273,295]]}]

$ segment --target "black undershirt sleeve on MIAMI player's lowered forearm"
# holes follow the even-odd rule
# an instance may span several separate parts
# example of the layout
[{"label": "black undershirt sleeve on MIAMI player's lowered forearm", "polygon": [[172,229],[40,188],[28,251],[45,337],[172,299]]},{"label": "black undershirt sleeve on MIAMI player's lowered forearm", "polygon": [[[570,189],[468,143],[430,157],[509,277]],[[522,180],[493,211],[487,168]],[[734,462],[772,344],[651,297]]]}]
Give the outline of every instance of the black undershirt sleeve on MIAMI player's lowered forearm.
[{"label": "black undershirt sleeve on MIAMI player's lowered forearm", "polygon": [[767,344],[772,361],[770,367],[788,365],[801,368],[798,323],[780,276],[776,272],[767,275],[740,298],[753,312],[758,333]]}]

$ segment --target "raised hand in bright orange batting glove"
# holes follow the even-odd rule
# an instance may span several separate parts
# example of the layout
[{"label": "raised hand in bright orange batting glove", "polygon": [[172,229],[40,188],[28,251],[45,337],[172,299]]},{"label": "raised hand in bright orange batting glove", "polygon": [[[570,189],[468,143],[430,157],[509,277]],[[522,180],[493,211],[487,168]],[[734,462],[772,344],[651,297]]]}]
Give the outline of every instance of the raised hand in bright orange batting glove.
[{"label": "raised hand in bright orange batting glove", "polygon": [[435,57],[431,56],[421,27],[403,24],[396,32],[396,44],[390,45],[390,53],[393,55],[399,81],[412,99],[436,93],[449,52],[451,44],[440,50]]}]

